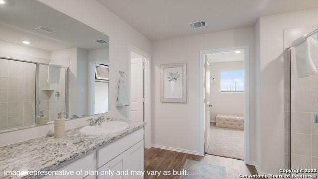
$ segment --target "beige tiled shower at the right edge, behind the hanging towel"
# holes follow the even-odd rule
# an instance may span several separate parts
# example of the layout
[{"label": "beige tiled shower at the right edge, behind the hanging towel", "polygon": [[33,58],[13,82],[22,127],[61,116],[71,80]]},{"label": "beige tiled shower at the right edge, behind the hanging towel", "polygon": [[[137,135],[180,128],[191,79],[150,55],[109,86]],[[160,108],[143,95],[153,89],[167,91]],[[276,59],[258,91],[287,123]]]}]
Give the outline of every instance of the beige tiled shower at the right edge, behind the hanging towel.
[{"label": "beige tiled shower at the right edge, behind the hanging towel", "polygon": [[[284,29],[285,54],[285,155],[291,169],[318,168],[318,74],[299,78],[292,42],[313,32],[317,26]],[[317,33],[311,36],[317,41]],[[318,67],[318,48],[311,47]]]}]

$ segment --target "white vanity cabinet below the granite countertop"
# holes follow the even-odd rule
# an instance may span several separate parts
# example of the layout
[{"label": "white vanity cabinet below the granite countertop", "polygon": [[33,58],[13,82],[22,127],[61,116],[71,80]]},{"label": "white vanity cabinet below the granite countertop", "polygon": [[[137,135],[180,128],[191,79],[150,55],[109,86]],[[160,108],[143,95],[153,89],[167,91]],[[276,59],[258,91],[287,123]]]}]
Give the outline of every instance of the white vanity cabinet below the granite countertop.
[{"label": "white vanity cabinet below the granite countertop", "polygon": [[[76,171],[98,171],[98,176],[47,176],[49,179],[142,179],[138,175],[131,175],[131,171],[144,171],[144,130],[140,129],[132,134],[114,141],[92,153],[58,169]],[[127,171],[128,175],[116,175],[117,171]],[[106,175],[114,171],[111,177]],[[103,174],[103,175],[101,175]]]}]

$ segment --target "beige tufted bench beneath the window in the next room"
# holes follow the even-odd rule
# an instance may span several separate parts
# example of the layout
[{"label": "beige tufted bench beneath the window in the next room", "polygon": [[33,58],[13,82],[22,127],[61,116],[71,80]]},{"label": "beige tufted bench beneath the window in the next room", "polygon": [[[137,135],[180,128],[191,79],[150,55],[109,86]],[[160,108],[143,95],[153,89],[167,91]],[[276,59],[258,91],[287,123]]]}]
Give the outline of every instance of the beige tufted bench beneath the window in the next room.
[{"label": "beige tufted bench beneath the window in the next room", "polygon": [[217,114],[216,126],[220,128],[231,128],[244,130],[244,116],[243,115],[227,115]]}]

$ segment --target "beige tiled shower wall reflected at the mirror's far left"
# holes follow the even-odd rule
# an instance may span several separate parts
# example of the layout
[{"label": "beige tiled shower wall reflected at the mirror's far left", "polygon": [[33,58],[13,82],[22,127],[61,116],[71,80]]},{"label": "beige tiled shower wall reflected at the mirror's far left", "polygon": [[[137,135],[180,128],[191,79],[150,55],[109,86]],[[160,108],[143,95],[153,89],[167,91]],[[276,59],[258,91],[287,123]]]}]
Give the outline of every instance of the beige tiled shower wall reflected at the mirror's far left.
[{"label": "beige tiled shower wall reflected at the mirror's far left", "polygon": [[0,59],[0,130],[34,125],[33,63]]}]

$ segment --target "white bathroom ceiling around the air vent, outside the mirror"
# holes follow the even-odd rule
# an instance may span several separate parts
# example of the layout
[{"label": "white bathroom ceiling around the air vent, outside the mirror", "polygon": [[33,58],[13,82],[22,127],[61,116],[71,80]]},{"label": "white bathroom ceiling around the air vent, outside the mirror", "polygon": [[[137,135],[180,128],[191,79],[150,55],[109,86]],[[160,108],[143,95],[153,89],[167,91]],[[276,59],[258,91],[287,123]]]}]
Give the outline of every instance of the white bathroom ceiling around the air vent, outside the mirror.
[{"label": "white bathroom ceiling around the air vent, outside the mirror", "polygon": [[[253,26],[258,17],[318,7],[318,0],[98,0],[151,41]],[[206,20],[190,30],[188,23]]]}]

